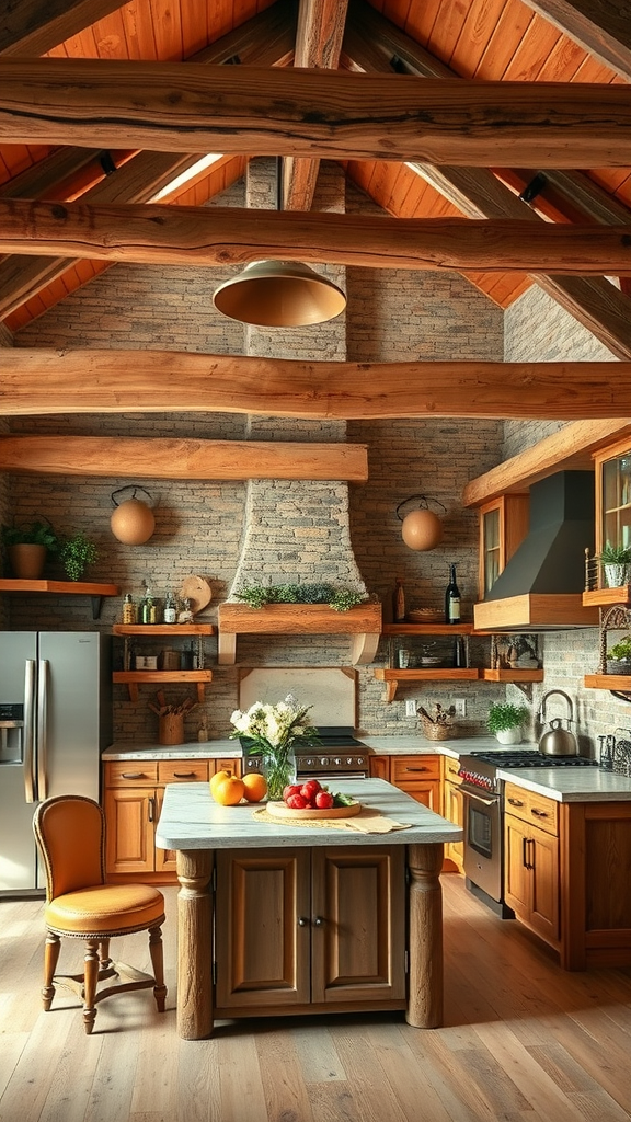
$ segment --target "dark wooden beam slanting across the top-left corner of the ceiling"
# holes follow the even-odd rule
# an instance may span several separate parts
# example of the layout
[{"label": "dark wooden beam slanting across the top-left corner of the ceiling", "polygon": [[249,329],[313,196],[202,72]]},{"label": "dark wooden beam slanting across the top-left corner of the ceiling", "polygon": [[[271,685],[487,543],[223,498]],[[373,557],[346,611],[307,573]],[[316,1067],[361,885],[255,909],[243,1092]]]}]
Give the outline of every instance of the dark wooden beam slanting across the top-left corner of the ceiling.
[{"label": "dark wooden beam slanting across the top-left corner of the ceiling", "polygon": [[3,3],[0,55],[43,55],[117,8],[120,8],[120,0],[19,0]]}]

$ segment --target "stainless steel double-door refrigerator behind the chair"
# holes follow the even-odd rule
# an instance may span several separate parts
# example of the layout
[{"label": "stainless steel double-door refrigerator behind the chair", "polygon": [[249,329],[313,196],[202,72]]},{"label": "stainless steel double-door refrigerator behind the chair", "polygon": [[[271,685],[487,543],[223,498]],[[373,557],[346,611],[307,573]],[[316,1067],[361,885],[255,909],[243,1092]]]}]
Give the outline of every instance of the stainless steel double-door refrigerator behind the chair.
[{"label": "stainless steel double-door refrigerator behind the chair", "polygon": [[43,799],[99,799],[112,741],[111,638],[98,632],[0,633],[0,894],[45,884],[33,835]]}]

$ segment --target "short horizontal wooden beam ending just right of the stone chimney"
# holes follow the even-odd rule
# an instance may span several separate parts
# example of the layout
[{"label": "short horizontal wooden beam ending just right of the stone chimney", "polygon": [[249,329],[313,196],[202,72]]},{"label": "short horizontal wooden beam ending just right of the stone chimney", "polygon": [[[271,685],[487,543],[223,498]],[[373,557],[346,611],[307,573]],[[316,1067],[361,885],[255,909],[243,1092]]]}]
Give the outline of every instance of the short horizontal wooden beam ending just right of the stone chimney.
[{"label": "short horizontal wooden beam ending just right of the stone chimney", "polygon": [[0,436],[0,471],[134,479],[344,479],[366,482],[366,444]]}]

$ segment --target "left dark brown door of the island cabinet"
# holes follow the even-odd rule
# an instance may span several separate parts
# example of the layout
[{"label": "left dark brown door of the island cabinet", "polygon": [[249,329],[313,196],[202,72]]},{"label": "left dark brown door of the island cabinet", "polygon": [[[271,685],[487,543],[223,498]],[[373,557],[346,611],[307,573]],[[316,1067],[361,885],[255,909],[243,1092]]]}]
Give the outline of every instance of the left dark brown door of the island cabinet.
[{"label": "left dark brown door of the island cabinet", "polygon": [[308,849],[218,852],[219,1009],[309,1002],[310,880]]}]

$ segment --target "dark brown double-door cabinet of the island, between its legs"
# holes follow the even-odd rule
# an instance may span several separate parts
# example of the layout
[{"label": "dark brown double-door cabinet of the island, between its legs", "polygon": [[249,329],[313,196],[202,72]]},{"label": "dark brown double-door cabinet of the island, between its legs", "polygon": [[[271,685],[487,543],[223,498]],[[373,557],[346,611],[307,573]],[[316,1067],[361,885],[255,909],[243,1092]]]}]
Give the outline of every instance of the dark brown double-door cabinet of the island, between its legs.
[{"label": "dark brown double-door cabinet of the island, between its legs", "polygon": [[216,1015],[405,1008],[404,846],[216,857]]}]

